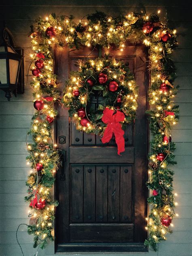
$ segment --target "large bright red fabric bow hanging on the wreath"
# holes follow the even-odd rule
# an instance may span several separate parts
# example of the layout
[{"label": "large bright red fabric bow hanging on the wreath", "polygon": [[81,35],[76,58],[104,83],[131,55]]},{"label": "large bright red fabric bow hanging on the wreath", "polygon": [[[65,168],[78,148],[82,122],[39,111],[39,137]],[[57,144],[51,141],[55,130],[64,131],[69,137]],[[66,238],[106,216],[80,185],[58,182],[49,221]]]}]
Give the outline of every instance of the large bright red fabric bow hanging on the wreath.
[{"label": "large bright red fabric bow hanging on the wreath", "polygon": [[105,132],[103,134],[103,137],[101,139],[102,143],[109,142],[110,139],[113,136],[113,133],[115,135],[115,142],[117,144],[117,154],[120,156],[121,152],[125,151],[125,141],[124,141],[124,131],[122,130],[122,126],[119,122],[124,121],[125,115],[124,113],[117,111],[117,113],[114,114],[114,110],[112,109],[104,109],[103,116],[102,116],[102,122],[107,124],[107,128],[105,129]]}]

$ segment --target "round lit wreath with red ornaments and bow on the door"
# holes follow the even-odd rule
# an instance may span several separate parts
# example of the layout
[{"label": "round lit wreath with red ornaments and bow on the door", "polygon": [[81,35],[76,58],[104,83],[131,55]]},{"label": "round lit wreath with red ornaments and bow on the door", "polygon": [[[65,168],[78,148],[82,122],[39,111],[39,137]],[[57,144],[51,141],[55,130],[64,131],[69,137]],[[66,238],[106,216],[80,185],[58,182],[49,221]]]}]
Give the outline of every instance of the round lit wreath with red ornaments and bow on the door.
[{"label": "round lit wreath with red ornaments and bow on the door", "polygon": [[[103,135],[103,143],[114,133],[120,154],[124,151],[122,129],[133,121],[137,109],[138,88],[128,63],[97,58],[78,64],[79,71],[71,72],[66,83],[64,105],[78,130]],[[95,97],[101,100],[92,106]]]}]

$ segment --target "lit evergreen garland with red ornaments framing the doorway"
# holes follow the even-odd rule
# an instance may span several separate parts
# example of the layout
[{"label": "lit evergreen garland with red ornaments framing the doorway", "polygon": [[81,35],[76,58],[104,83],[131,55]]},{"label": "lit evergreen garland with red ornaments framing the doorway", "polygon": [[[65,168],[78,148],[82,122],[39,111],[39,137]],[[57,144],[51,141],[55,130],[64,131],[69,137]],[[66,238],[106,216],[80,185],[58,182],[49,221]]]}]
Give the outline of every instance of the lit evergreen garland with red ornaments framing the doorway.
[{"label": "lit evergreen garland with red ornaments framing the doorway", "polygon": [[[158,11],[159,13],[159,11]],[[148,198],[151,205],[147,218],[148,239],[145,245],[157,250],[157,244],[165,240],[165,234],[171,233],[169,226],[175,216],[173,196],[173,171],[169,164],[175,164],[171,142],[171,128],[178,121],[178,106],[173,98],[177,87],[172,85],[175,79],[175,66],[171,53],[177,46],[175,30],[161,22],[157,14],[130,13],[113,19],[105,13],[97,12],[87,16],[87,22],[75,24],[73,17],[50,15],[36,21],[36,32],[32,32],[32,74],[31,87],[34,92],[36,113],[32,118],[29,134],[33,143],[28,144],[28,163],[32,173],[26,185],[32,213],[28,233],[34,235],[34,247],[38,244],[44,248],[51,235],[54,220],[54,206],[51,201],[50,188],[54,183],[54,171],[57,169],[59,156],[51,142],[51,122],[57,115],[53,102],[60,101],[58,85],[53,72],[52,45],[68,46],[78,49],[87,47],[119,47],[124,50],[124,43],[143,43],[149,47],[149,68],[151,86],[149,88],[149,105],[147,111],[150,129],[154,134],[150,142],[149,180],[147,187],[153,193]],[[48,94],[48,95],[47,95]],[[176,194],[175,194],[176,195]],[[176,214],[177,215],[177,214]],[[171,224],[172,225],[172,224]]]}]

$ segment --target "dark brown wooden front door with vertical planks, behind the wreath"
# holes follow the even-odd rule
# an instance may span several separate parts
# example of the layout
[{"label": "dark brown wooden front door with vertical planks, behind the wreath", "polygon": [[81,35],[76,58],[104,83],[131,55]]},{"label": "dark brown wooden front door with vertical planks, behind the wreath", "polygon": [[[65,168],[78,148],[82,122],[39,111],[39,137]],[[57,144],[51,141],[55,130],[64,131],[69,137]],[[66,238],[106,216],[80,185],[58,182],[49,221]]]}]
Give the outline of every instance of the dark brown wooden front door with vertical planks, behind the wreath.
[{"label": "dark brown wooden front door with vertical planks, behind the wreath", "polygon": [[[129,63],[139,85],[137,119],[125,131],[126,150],[117,155],[115,140],[103,145],[100,137],[81,133],[70,122],[68,111],[58,106],[55,138],[62,150],[62,168],[56,175],[56,251],[146,250],[147,169],[147,54],[143,45],[109,49],[116,59]],[[104,53],[107,53],[102,52]],[[77,60],[90,49],[55,49],[58,82],[64,87]],[[95,49],[88,58],[98,57]],[[92,104],[98,106],[100,99]]]}]

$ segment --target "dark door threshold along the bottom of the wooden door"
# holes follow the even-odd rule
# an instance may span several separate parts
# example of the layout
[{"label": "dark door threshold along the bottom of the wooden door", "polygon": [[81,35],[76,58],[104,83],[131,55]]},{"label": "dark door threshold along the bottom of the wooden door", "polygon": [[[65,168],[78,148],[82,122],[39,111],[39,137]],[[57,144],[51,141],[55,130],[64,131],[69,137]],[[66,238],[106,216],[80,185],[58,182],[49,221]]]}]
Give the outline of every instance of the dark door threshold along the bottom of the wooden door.
[{"label": "dark door threshold along the bottom of the wooden door", "polygon": [[147,252],[144,243],[60,243],[57,252]]}]

